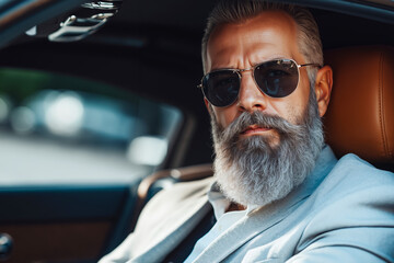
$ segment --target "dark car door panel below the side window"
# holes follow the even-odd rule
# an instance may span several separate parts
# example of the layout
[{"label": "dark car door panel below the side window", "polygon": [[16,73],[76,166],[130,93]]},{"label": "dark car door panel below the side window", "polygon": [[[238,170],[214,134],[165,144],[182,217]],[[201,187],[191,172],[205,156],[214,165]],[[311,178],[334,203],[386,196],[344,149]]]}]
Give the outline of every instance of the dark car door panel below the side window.
[{"label": "dark car door panel below the side window", "polygon": [[124,238],[117,232],[127,235],[132,192],[129,185],[0,188],[0,233],[13,240],[4,262],[96,262]]}]

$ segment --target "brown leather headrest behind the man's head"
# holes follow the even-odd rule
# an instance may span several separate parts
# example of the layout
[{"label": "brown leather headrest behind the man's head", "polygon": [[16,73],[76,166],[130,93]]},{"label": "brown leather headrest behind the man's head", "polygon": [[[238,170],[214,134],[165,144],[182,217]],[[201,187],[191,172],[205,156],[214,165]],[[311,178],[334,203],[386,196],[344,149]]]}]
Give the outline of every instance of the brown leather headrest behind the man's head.
[{"label": "brown leather headrest behind the man's head", "polygon": [[334,85],[323,122],[337,157],[352,152],[376,165],[394,163],[394,48],[325,53]]}]

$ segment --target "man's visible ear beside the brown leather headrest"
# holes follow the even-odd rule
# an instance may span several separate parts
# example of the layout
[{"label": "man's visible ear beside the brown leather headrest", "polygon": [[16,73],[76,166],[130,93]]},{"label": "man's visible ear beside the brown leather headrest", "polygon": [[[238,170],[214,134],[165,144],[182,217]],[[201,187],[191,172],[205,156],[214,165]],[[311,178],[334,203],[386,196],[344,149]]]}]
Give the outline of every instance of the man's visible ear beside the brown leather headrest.
[{"label": "man's visible ear beside the brown leather headrest", "polygon": [[323,117],[327,111],[333,88],[333,69],[329,66],[324,66],[321,68],[317,71],[315,81],[315,94],[318,112],[320,116]]}]

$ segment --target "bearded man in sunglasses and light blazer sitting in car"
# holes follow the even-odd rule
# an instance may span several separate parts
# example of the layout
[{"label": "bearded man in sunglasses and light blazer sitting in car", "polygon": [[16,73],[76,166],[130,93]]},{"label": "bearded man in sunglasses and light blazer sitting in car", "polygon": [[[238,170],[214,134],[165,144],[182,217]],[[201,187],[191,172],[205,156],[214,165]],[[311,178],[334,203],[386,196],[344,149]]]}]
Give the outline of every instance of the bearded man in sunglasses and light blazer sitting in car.
[{"label": "bearded man in sunglasses and light blazer sitting in car", "polygon": [[[311,14],[221,1],[202,61],[215,178],[159,193],[102,262],[393,262],[393,174],[324,145],[333,73]],[[217,222],[190,252],[211,207]]]}]

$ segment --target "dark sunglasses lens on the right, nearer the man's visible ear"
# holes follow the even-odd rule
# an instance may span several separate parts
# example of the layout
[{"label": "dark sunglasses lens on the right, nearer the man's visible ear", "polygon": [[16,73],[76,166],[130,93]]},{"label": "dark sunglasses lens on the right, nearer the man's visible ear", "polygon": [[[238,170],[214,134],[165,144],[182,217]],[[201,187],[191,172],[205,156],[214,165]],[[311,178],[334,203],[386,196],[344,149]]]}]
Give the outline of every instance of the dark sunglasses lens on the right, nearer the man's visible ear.
[{"label": "dark sunglasses lens on the right, nearer the man's visible ear", "polygon": [[290,95],[298,85],[298,68],[292,60],[273,60],[256,67],[254,78],[259,89],[273,98]]}]

